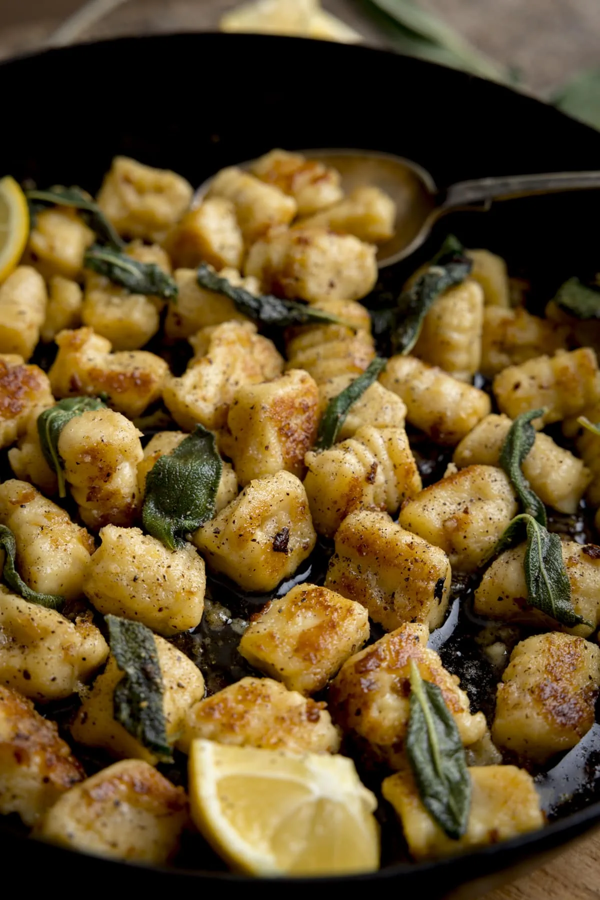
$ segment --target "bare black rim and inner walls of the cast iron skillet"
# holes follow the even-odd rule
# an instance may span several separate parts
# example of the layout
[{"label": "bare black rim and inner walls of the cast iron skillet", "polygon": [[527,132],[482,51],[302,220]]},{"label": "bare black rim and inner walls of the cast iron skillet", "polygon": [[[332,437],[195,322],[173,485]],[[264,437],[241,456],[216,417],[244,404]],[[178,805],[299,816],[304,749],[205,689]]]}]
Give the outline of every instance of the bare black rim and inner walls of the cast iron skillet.
[{"label": "bare black rim and inner walls of the cast iron skillet", "polygon": [[[273,147],[356,147],[399,153],[438,185],[484,175],[600,167],[600,135],[529,97],[450,69],[379,50],[321,41],[185,34],[111,40],[0,64],[4,128],[0,175],[95,190],[116,153],[173,168],[192,184]],[[598,262],[597,193],[498,204],[443,220],[406,272],[448,230],[506,257],[531,277],[540,302]],[[597,266],[593,271],[597,271]],[[354,878],[255,881],[229,874],[147,869],[25,842],[0,820],[4,873],[31,889],[53,875],[155,896],[254,887],[282,891],[418,889],[472,897],[513,878],[600,824],[600,802],[514,841],[458,859],[399,864]],[[23,868],[23,865],[26,868]],[[50,882],[51,883],[51,882]]]}]

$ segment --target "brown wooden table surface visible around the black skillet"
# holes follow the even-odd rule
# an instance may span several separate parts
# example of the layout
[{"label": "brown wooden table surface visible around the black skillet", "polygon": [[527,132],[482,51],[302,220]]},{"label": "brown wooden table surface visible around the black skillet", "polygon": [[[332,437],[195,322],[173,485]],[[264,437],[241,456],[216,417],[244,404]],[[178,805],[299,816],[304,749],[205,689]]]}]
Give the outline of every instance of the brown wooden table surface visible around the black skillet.
[{"label": "brown wooden table surface visible around the black skillet", "polygon": [[[239,0],[130,0],[93,35],[214,29]],[[480,49],[520,69],[540,94],[600,61],[600,0],[419,0],[467,34]],[[20,0],[0,4],[0,57],[39,46],[83,0]],[[378,34],[352,0],[325,0],[376,43]],[[600,835],[583,839],[533,874],[480,900],[592,900],[600,897]]]}]

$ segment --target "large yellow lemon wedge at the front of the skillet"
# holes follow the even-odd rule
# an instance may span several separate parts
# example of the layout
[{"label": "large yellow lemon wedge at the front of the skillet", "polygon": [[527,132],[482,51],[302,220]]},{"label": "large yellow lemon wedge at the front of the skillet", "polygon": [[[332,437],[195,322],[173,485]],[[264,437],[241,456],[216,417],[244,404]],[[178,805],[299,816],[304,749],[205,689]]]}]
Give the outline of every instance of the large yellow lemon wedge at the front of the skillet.
[{"label": "large yellow lemon wedge at the front of the skillet", "polygon": [[252,875],[339,875],[379,866],[377,800],[344,756],[193,741],[193,821]]}]

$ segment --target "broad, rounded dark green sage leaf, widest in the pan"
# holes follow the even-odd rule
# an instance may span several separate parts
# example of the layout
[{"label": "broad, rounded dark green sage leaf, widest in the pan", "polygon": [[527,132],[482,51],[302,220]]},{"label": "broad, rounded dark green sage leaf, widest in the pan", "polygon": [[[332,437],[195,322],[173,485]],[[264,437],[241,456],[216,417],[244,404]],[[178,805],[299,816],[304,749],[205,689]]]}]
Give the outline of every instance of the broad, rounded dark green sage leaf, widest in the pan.
[{"label": "broad, rounded dark green sage leaf, widest in the pan", "polygon": [[170,454],[161,456],[146,479],[142,522],[170,550],[214,516],[223,461],[215,436],[201,425]]}]

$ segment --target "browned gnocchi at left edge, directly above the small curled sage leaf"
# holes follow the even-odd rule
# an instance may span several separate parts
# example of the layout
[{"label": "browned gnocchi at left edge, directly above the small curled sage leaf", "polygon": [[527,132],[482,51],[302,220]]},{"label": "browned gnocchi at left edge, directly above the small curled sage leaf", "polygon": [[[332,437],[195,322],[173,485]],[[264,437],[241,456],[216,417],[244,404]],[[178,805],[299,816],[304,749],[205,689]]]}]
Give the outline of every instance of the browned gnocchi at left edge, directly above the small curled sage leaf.
[{"label": "browned gnocchi at left edge, directly above the small curled sage leaf", "polygon": [[0,523],[11,529],[22,580],[40,594],[81,597],[94,540],[31,484],[0,484]]}]

